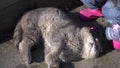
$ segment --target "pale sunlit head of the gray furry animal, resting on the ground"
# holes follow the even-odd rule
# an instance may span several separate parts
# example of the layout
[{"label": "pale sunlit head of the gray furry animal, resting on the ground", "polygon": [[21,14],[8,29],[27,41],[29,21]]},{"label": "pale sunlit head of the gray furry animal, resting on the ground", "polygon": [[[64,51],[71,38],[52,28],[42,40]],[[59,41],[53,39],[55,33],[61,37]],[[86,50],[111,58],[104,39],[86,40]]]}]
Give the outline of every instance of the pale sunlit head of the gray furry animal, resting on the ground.
[{"label": "pale sunlit head of the gray furry animal, resting on the ground", "polygon": [[98,36],[90,31],[90,28],[83,27],[81,29],[81,37],[83,40],[82,58],[96,58],[102,52],[102,46]]}]

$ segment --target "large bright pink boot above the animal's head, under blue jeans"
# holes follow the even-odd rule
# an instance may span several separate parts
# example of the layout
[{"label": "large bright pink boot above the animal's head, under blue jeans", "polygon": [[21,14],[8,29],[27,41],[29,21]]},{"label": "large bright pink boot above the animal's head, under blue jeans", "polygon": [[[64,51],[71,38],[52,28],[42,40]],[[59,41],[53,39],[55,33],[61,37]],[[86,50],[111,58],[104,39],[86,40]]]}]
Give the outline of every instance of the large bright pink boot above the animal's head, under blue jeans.
[{"label": "large bright pink boot above the animal's head, under blue jeans", "polygon": [[101,16],[103,16],[102,12],[98,9],[93,10],[93,9],[87,8],[80,11],[80,18],[84,21],[93,20]]}]

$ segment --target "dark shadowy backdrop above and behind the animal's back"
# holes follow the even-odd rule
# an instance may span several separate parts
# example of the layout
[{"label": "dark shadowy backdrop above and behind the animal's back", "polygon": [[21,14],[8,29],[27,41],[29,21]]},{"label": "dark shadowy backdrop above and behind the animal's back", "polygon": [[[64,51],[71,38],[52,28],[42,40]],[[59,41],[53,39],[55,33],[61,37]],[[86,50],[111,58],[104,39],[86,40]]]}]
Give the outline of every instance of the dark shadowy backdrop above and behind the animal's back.
[{"label": "dark shadowy backdrop above and behind the animal's back", "polygon": [[20,17],[39,7],[57,7],[66,11],[80,6],[79,0],[0,0],[0,42],[12,37]]}]

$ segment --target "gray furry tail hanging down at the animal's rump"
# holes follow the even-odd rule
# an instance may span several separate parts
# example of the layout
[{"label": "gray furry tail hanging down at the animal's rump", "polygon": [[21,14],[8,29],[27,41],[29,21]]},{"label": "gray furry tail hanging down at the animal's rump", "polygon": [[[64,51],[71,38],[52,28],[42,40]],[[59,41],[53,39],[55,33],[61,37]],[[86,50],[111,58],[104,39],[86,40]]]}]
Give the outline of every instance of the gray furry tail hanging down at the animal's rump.
[{"label": "gray furry tail hanging down at the animal's rump", "polygon": [[21,42],[22,40],[22,33],[23,33],[23,30],[22,30],[22,27],[20,25],[20,23],[18,23],[16,25],[16,28],[14,30],[14,35],[13,35],[13,41],[14,41],[14,45],[18,48],[19,46],[19,43]]}]

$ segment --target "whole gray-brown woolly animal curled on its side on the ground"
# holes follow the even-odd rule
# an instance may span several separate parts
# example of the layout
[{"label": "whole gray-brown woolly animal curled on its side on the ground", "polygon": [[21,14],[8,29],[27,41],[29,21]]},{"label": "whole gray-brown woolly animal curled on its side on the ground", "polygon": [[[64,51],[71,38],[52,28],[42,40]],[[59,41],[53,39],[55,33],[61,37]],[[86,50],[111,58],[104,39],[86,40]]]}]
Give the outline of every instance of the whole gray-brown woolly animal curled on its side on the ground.
[{"label": "whole gray-brown woolly animal curled on its side on the ground", "polygon": [[18,22],[13,39],[27,65],[32,60],[31,47],[43,39],[48,68],[59,68],[60,62],[95,58],[101,51],[100,41],[90,28],[75,25],[63,11],[51,7],[27,12]]}]

